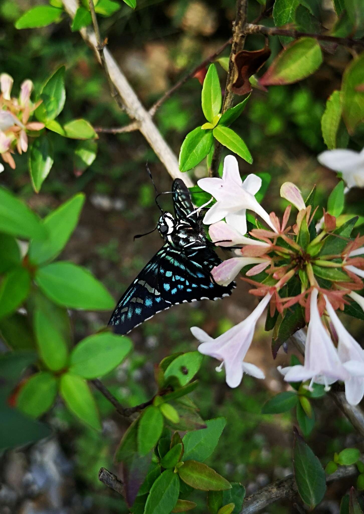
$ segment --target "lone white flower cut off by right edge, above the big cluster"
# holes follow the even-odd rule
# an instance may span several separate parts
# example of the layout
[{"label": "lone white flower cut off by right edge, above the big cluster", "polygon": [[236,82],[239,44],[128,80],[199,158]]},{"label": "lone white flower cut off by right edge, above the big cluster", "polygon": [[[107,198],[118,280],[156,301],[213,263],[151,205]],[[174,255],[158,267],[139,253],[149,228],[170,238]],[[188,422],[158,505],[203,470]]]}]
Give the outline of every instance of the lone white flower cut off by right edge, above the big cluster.
[{"label": "lone white flower cut off by right edge, above the big cluster", "polygon": [[323,166],[341,172],[348,188],[364,187],[364,148],[361,152],[354,150],[327,150],[317,156]]}]

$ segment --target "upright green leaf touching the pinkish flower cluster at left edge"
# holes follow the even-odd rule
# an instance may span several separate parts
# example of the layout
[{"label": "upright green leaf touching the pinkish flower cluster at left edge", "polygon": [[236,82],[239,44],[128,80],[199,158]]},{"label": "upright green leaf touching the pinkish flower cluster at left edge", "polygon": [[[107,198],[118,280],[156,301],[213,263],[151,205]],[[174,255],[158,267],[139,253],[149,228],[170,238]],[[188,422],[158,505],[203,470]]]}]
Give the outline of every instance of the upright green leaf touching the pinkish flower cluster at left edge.
[{"label": "upright green leaf touching the pinkish flower cluster at left edge", "polygon": [[54,120],[61,112],[66,101],[65,66],[56,70],[42,87],[40,100],[42,103],[35,109],[39,121],[47,123]]}]

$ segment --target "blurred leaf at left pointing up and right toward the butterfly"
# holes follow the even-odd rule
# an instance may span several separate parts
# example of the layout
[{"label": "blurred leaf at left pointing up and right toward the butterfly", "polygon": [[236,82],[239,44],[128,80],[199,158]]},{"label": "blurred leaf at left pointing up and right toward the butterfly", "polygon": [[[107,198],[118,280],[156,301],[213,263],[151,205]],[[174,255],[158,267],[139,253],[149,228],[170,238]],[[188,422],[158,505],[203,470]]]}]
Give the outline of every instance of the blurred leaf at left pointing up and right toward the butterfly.
[{"label": "blurred leaf at left pointing up and right toward the butterfly", "polygon": [[28,256],[33,264],[44,264],[61,253],[78,224],[84,201],[84,193],[78,193],[44,218],[48,237],[30,243]]}]

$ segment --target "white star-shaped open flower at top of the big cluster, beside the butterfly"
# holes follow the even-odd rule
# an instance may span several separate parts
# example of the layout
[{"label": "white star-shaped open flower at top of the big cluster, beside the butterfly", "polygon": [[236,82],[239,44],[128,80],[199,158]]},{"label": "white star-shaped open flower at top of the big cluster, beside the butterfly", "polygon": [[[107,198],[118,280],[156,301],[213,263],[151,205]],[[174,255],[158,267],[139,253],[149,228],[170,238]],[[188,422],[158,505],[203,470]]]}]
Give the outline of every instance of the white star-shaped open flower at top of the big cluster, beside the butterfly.
[{"label": "white star-shaped open flower at top of the big cluster, beside the butterfly", "polygon": [[205,214],[203,223],[210,225],[225,218],[226,223],[241,234],[246,233],[246,209],[254,211],[275,231],[269,214],[255,198],[261,186],[261,179],[254,174],[248,175],[242,182],[238,161],[233,155],[224,159],[222,178],[200,178],[198,185],[216,200]]}]

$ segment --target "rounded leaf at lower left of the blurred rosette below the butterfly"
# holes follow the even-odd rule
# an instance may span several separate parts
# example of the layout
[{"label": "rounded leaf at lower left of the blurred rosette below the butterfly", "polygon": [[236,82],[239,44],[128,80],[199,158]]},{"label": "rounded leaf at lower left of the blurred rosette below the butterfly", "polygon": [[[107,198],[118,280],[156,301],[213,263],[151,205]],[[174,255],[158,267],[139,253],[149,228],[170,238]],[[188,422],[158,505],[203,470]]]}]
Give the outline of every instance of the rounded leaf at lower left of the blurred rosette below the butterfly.
[{"label": "rounded leaf at lower left of the blurred rosette below the butterfly", "polygon": [[16,406],[28,416],[39,417],[52,407],[57,390],[58,383],[54,375],[46,371],[35,373],[22,386]]}]

